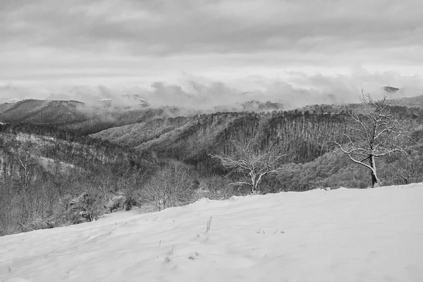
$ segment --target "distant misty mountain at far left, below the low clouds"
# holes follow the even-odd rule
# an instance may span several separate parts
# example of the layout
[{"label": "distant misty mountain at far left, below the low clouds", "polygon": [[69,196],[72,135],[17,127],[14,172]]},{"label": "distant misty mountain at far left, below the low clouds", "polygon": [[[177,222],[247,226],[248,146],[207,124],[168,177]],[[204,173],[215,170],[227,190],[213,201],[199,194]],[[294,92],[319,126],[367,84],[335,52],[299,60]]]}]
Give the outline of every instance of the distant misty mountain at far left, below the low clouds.
[{"label": "distant misty mountain at far left, below the low clouds", "polygon": [[138,100],[134,106],[113,106],[107,100],[97,106],[78,101],[27,99],[0,104],[0,121],[54,125],[60,128],[94,133],[116,125],[149,121],[157,117],[180,115],[174,107],[150,109]]}]

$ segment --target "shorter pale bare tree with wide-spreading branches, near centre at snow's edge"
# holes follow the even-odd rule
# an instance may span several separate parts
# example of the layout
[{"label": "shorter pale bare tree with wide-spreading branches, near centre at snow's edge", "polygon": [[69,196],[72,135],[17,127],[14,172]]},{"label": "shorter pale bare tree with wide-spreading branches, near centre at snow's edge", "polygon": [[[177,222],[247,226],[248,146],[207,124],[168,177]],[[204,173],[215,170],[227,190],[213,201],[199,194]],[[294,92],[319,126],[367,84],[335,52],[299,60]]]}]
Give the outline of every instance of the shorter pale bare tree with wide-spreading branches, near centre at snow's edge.
[{"label": "shorter pale bare tree with wide-spreading branches, near centre at snow's edge", "polygon": [[239,137],[231,140],[231,152],[210,154],[214,159],[219,159],[221,165],[230,170],[242,173],[245,180],[233,185],[249,185],[252,194],[260,192],[259,184],[264,176],[269,173],[278,173],[284,164],[293,159],[287,153],[286,145],[275,142],[262,145],[259,130],[252,137]]}]

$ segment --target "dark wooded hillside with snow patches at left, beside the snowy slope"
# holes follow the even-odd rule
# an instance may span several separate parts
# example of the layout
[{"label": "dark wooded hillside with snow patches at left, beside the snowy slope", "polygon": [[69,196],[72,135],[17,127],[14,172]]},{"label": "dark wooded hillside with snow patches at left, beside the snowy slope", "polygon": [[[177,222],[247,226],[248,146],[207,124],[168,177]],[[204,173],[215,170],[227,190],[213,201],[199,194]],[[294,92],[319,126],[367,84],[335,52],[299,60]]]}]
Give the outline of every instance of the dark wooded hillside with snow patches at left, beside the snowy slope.
[{"label": "dark wooded hillside with snow patches at left, beside the snowy slope", "polygon": [[0,125],[0,235],[90,221],[154,166],[109,142],[29,123]]}]

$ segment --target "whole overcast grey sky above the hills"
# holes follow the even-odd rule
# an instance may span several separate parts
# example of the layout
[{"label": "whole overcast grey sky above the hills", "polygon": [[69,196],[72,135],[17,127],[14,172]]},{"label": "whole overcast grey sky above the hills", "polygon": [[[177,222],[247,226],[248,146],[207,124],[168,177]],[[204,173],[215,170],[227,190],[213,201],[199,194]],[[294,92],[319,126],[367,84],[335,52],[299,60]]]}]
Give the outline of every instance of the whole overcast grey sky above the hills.
[{"label": "whole overcast grey sky above the hills", "polygon": [[423,94],[422,11],[421,0],[0,0],[0,98]]}]

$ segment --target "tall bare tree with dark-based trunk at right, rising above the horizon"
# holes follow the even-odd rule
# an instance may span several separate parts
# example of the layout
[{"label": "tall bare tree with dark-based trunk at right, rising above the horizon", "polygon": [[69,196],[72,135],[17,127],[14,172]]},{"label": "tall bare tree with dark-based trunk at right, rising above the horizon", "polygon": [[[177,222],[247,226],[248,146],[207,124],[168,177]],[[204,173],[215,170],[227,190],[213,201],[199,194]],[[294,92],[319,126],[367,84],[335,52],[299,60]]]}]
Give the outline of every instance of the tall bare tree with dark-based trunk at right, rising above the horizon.
[{"label": "tall bare tree with dark-based trunk at right, rising above the horizon", "polygon": [[358,111],[348,112],[350,133],[336,136],[334,142],[351,161],[369,169],[372,188],[375,188],[381,186],[376,159],[405,152],[410,137],[405,126],[389,110],[386,96],[374,100],[370,94],[362,94],[360,102]]}]

